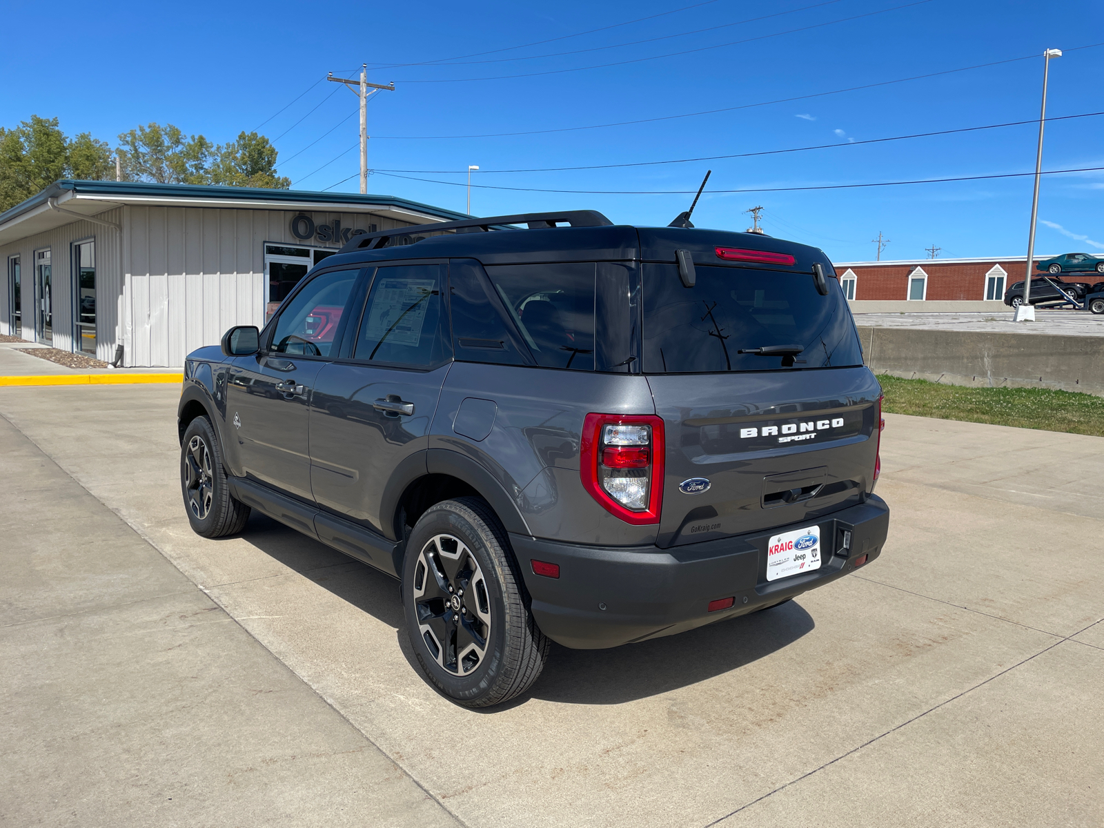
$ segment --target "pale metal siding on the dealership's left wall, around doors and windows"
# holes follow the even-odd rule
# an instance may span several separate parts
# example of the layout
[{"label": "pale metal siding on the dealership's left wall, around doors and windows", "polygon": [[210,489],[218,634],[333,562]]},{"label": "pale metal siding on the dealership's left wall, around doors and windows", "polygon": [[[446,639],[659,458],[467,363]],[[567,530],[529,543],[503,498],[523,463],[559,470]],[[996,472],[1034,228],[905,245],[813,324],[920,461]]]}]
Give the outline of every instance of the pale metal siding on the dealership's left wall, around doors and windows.
[{"label": "pale metal siding on the dealership's left wall, around doors and windows", "polygon": [[[99,213],[97,219],[119,224],[123,209]],[[119,263],[121,240],[113,227],[87,221],[74,221],[44,233],[20,238],[0,246],[3,278],[0,279],[0,332],[10,333],[11,304],[8,257],[18,255],[22,266],[23,337],[31,339],[34,321],[34,251],[50,248],[53,280],[54,348],[73,349],[73,243],[96,241],[96,357],[104,361],[115,358],[118,342],[123,295],[123,267]]]}]

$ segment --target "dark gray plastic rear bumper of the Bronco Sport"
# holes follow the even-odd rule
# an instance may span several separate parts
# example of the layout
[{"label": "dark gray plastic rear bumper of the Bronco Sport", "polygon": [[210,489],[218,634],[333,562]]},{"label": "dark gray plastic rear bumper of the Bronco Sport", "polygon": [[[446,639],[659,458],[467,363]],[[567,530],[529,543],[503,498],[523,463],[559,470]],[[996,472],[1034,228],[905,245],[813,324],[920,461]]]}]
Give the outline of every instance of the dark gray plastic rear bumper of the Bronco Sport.
[{"label": "dark gray plastic rear bumper of the Bronco Sport", "polygon": [[[565,647],[602,649],[744,615],[842,577],[857,558],[881,553],[889,520],[889,507],[874,495],[821,519],[820,569],[774,582],[766,580],[767,541],[807,522],[671,549],[583,546],[512,533],[510,541],[541,630]],[[849,550],[842,549],[845,530]],[[559,564],[560,577],[534,575],[534,559]],[[709,602],[728,597],[735,598],[731,609],[708,612]]]}]

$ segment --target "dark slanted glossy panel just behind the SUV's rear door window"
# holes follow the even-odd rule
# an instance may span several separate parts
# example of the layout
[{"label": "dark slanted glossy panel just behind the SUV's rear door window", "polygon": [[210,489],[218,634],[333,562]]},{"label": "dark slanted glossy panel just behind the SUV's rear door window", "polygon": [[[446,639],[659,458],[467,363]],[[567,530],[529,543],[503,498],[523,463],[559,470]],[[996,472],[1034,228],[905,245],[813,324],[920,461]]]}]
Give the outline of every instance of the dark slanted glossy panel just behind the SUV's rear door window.
[{"label": "dark slanted glossy panel just behind the SUV's rear door window", "polygon": [[448,266],[453,350],[461,362],[528,365],[528,348],[512,330],[502,301],[478,262],[454,259]]}]

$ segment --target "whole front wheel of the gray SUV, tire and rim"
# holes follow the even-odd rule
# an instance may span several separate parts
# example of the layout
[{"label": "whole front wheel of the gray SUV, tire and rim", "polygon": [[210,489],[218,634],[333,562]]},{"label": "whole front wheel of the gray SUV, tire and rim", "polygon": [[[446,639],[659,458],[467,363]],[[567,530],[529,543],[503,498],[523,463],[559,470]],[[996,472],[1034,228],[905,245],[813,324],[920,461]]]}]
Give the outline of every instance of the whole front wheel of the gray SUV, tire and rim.
[{"label": "whole front wheel of the gray SUV, tire and rim", "polygon": [[192,531],[204,538],[224,538],[245,529],[250,507],[230,496],[222,447],[206,417],[188,424],[180,447],[180,490]]}]

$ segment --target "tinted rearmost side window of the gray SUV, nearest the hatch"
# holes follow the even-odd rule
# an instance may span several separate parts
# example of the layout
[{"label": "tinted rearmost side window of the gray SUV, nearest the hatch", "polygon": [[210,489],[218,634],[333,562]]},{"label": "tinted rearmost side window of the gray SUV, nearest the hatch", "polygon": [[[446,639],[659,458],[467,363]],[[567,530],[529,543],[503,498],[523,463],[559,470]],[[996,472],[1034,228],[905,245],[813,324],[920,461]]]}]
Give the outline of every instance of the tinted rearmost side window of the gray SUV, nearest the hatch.
[{"label": "tinted rearmost side window of the gray SUV, nearest the hatch", "polygon": [[594,370],[594,264],[487,267],[538,364]]}]

